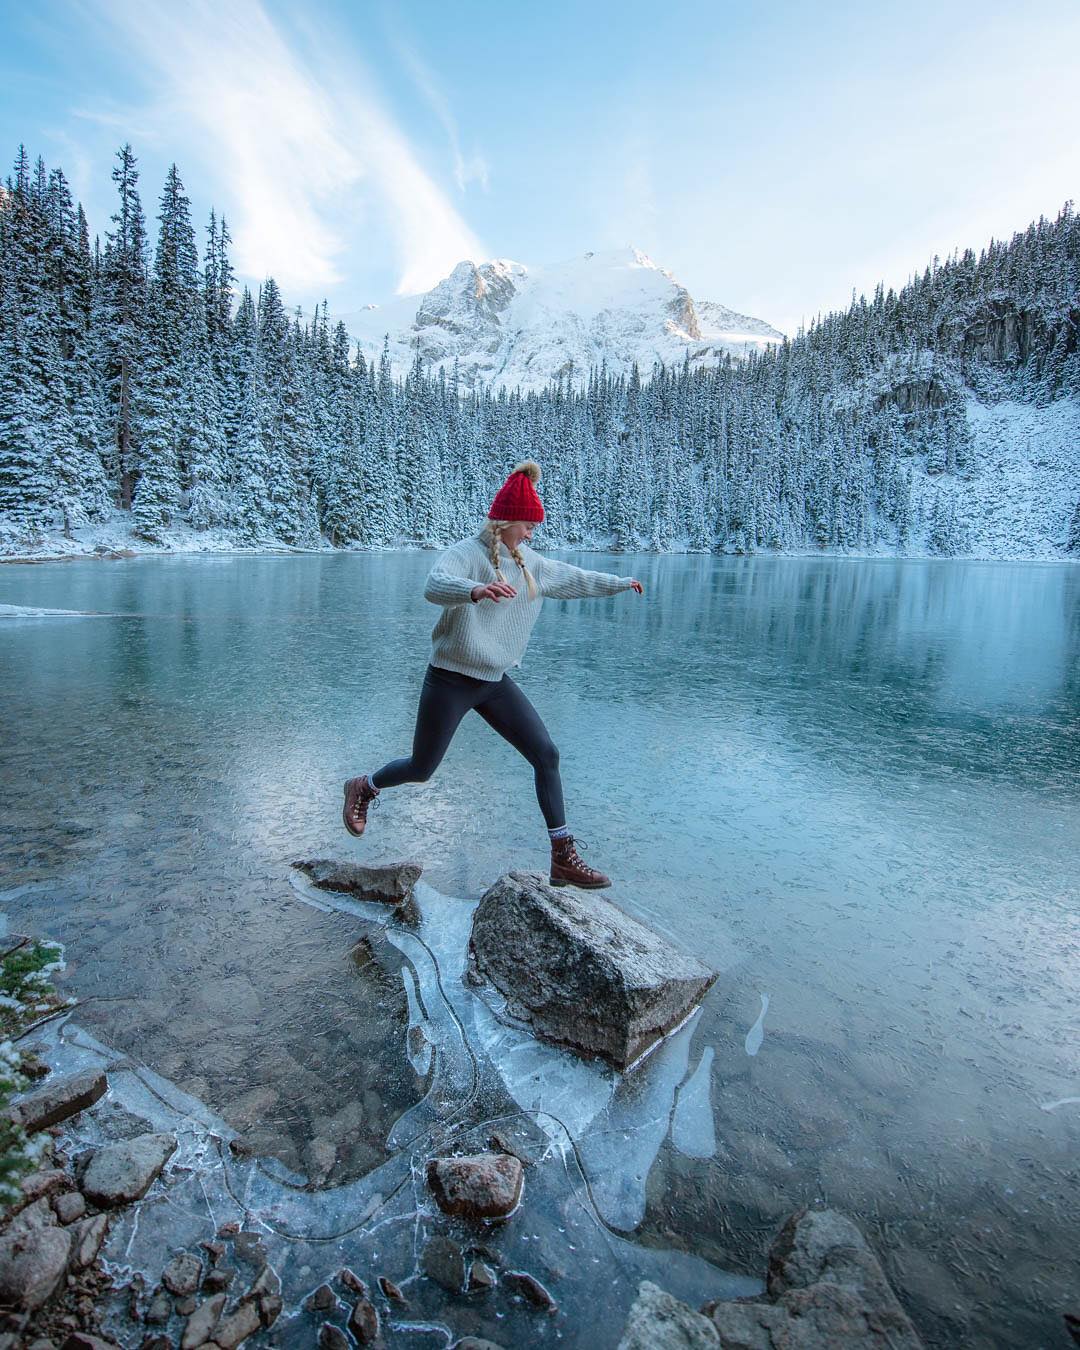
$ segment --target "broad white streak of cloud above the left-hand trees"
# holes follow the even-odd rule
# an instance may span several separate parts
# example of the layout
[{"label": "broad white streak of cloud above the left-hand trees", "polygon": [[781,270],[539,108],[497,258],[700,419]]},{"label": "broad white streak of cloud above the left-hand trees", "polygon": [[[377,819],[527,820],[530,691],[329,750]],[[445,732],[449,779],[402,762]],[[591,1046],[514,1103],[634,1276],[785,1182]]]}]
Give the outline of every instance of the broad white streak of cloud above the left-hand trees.
[{"label": "broad white streak of cloud above the left-hand trees", "polygon": [[177,161],[198,142],[242,275],[317,293],[343,279],[364,227],[397,248],[398,293],[482,255],[355,53],[302,50],[259,0],[101,0],[97,12],[134,49],[153,90],[144,111],[173,128]]}]

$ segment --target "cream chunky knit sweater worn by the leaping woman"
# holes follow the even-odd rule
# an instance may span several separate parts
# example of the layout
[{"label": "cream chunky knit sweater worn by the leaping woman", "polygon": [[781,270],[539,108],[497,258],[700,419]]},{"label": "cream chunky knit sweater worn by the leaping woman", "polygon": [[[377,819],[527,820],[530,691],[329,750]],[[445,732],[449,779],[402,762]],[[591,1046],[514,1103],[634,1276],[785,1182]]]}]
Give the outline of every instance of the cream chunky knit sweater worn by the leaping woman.
[{"label": "cream chunky knit sweater worn by the leaping woman", "polygon": [[431,633],[432,666],[475,679],[502,679],[509,667],[521,664],[545,595],[552,599],[583,599],[630,589],[629,576],[590,572],[555,558],[544,558],[522,540],[518,552],[539,591],[536,599],[529,599],[521,568],[505,544],[498,547],[502,575],[517,591],[513,599],[471,598],[475,586],[490,586],[498,580],[483,532],[451,545],[428,574],[424,598],[443,606]]}]

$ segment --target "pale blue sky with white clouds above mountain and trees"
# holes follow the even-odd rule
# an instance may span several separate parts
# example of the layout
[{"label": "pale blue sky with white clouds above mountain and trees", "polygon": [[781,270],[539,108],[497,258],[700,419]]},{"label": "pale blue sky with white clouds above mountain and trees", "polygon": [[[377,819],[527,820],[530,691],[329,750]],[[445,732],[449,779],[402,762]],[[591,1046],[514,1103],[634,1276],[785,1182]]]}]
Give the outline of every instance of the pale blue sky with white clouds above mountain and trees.
[{"label": "pale blue sky with white clouds above mountain and trees", "polygon": [[[634,244],[795,332],[1080,193],[1080,4],[0,0],[4,173],[104,236],[131,140],[240,277],[350,312]],[[155,228],[155,227],[154,227]]]}]

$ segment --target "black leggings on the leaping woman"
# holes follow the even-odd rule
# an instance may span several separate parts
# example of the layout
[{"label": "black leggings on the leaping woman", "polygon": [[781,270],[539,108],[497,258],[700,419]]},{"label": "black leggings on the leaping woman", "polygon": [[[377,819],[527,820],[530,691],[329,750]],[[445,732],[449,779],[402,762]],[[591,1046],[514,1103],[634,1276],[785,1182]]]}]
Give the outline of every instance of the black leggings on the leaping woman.
[{"label": "black leggings on the leaping woman", "polygon": [[428,666],[416,711],[413,752],[409,759],[390,760],[375,770],[371,775],[375,787],[427,782],[439,767],[470,707],[532,764],[536,799],[548,829],[566,825],[559,751],[540,714],[509,675],[502,679],[474,679],[459,671],[443,670],[441,666]]}]

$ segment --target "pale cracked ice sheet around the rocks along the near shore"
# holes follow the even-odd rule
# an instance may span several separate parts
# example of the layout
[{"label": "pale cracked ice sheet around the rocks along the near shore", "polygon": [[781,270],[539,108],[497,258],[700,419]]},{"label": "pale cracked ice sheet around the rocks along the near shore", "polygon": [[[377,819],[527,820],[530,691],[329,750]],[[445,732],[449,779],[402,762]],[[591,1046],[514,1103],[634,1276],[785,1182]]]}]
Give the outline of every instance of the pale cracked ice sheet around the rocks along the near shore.
[{"label": "pale cracked ice sheet around the rocks along the near shore", "polygon": [[[405,956],[409,1011],[402,1049],[416,1072],[427,1075],[427,1092],[394,1123],[387,1161],[354,1181],[320,1189],[274,1158],[235,1154],[231,1143],[239,1135],[228,1122],[111,1050],[80,1026],[77,1008],[39,1027],[40,1054],[54,1071],[108,1073],[108,1096],[69,1125],[74,1152],[143,1130],[169,1131],[178,1141],[162,1183],[113,1219],[103,1256],[119,1281],[136,1272],[154,1281],[162,1251],[194,1247],[223,1223],[238,1222],[261,1234],[281,1277],[286,1311],[279,1326],[293,1318],[301,1334],[302,1300],[348,1265],[373,1278],[385,1274],[405,1292],[408,1316],[405,1310],[396,1312],[396,1334],[431,1345],[437,1332],[450,1343],[460,1334],[451,1326],[452,1308],[421,1274],[425,1242],[444,1223],[427,1187],[425,1164],[436,1153],[485,1149],[500,1131],[529,1160],[526,1193],[513,1220],[486,1231],[483,1239],[498,1247],[506,1269],[531,1272],[558,1291],[560,1324],[591,1319],[606,1307],[614,1345],[641,1278],[663,1280],[672,1293],[695,1303],[706,1295],[760,1292],[757,1280],[622,1235],[644,1214],[645,1177],[671,1129],[693,1018],[634,1073],[583,1064],[502,1021],[498,1008],[464,986],[467,902],[417,883],[421,917],[410,929],[392,906],[360,905],[300,878],[292,884],[316,909],[342,909],[382,927]],[[679,1138],[693,1139],[698,1149],[709,1060],[706,1050],[676,1112]],[[119,1300],[109,1316],[122,1339]],[[500,1328],[512,1343],[525,1343],[533,1318],[522,1304],[506,1314]]]}]

